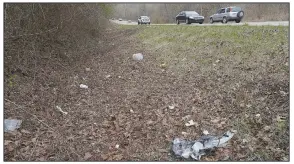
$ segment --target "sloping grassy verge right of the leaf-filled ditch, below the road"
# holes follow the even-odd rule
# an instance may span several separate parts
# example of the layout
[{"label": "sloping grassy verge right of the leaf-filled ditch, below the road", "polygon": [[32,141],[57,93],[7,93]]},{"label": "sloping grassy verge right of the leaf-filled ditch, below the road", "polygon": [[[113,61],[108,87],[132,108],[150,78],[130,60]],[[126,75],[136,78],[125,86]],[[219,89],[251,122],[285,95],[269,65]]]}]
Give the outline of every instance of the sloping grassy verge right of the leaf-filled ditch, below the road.
[{"label": "sloping grassy verge right of the leaf-filled ditch, below the road", "polygon": [[288,27],[123,28],[140,28],[156,65],[197,88],[205,114],[228,118],[244,160],[289,159]]}]

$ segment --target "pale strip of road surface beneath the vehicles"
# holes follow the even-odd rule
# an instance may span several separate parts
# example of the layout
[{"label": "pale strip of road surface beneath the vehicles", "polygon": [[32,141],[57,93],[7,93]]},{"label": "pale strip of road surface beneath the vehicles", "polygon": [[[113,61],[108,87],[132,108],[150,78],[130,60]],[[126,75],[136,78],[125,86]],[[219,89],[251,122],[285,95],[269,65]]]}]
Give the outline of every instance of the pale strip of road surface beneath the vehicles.
[{"label": "pale strip of road surface beneath the vehicles", "polygon": [[[113,23],[117,23],[117,24],[123,24],[123,25],[138,25],[137,22],[128,22],[126,20],[123,21],[118,21],[118,20],[110,20]],[[231,25],[231,26],[242,26],[244,24],[248,24],[249,26],[266,26],[266,25],[270,25],[270,26],[289,26],[289,21],[270,21],[270,22],[241,22],[241,23],[235,23],[235,22],[228,22],[226,24],[223,24],[221,22],[215,22],[213,24],[209,24],[209,23],[204,23],[204,24],[198,24],[198,23],[192,23],[192,24],[185,24],[185,23],[181,23],[180,25],[185,25],[185,26],[227,26],[227,25]],[[156,25],[176,25],[176,23],[174,24],[152,24],[152,26],[156,26]]]}]

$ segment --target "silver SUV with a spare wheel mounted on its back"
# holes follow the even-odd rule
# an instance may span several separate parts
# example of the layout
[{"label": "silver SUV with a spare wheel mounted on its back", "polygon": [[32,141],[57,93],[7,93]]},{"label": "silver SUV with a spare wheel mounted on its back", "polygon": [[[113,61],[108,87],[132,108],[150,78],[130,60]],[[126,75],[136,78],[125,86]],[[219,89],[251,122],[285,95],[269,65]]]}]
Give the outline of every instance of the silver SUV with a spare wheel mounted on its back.
[{"label": "silver SUV with a spare wheel mounted on its back", "polygon": [[222,22],[227,23],[228,21],[235,21],[240,23],[244,17],[244,11],[240,7],[226,7],[217,10],[215,14],[210,16],[210,23]]}]

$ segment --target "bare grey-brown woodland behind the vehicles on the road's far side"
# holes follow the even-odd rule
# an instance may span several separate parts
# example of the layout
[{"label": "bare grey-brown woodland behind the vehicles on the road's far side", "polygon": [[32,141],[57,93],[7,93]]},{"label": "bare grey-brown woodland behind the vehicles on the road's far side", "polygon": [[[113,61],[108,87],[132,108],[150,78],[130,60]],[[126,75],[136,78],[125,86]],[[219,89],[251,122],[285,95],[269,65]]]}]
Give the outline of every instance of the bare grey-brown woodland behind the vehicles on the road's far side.
[{"label": "bare grey-brown woodland behind the vehicles on the road's far side", "polygon": [[203,15],[208,22],[209,16],[217,9],[228,6],[239,6],[245,12],[244,21],[287,21],[289,20],[288,3],[233,4],[233,3],[177,3],[177,4],[115,4],[114,17],[137,20],[138,16],[147,15],[153,23],[173,23],[176,15],[183,10],[194,10]]}]

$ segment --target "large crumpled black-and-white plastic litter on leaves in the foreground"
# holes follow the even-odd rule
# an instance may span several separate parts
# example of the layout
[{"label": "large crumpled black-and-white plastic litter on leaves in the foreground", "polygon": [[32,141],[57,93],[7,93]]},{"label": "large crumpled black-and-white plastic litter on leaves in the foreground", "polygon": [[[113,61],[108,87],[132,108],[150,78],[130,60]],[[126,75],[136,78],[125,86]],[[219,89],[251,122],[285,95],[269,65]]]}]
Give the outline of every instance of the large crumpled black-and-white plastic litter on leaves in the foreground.
[{"label": "large crumpled black-and-white plastic litter on leaves in the foreground", "polygon": [[172,150],[177,156],[183,158],[192,157],[195,160],[200,160],[201,156],[205,155],[207,150],[223,147],[233,136],[234,132],[227,131],[221,137],[202,136],[196,141],[186,141],[184,139],[175,138]]}]

